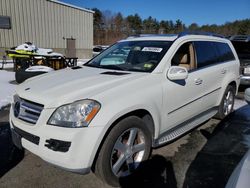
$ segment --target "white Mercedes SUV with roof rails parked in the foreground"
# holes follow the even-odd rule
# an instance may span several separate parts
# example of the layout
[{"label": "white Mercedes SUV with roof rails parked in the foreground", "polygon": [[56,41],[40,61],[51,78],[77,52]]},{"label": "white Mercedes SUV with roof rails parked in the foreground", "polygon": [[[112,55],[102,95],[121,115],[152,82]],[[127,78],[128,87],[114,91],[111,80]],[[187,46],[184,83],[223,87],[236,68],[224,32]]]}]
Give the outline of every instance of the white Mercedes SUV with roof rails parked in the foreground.
[{"label": "white Mercedes SUV with roof rails parked in the foreground", "polygon": [[115,186],[151,148],[232,112],[238,85],[239,59],[225,38],[128,38],[82,67],[21,84],[10,110],[13,141]]}]

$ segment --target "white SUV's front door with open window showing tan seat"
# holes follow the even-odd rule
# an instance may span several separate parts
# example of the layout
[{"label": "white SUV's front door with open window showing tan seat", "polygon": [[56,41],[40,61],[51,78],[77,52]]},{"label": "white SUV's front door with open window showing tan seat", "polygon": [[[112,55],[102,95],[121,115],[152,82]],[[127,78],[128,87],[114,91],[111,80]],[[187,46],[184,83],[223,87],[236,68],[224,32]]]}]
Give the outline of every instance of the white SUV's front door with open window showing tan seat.
[{"label": "white SUV's front door with open window showing tan seat", "polygon": [[188,70],[186,80],[169,80],[166,76],[163,95],[163,133],[203,111],[200,94],[203,87],[200,71],[196,71],[196,60],[192,42],[182,44],[171,60],[172,66]]}]

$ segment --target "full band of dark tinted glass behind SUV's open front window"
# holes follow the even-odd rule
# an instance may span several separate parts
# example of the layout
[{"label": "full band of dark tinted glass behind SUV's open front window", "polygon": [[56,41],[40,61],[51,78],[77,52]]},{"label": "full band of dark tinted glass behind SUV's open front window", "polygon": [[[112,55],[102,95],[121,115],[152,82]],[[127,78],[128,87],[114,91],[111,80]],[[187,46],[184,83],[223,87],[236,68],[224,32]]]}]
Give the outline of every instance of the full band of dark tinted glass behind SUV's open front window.
[{"label": "full band of dark tinted glass behind SUV's open front window", "polygon": [[197,68],[235,60],[227,43],[195,41]]}]

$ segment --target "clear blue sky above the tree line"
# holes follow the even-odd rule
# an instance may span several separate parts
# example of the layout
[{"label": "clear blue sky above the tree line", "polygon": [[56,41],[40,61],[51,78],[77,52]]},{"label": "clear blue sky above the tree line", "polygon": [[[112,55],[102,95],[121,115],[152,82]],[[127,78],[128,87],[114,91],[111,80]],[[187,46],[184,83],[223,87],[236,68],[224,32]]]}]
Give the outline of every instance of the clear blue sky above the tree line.
[{"label": "clear blue sky above the tree line", "polygon": [[138,13],[143,19],[182,20],[186,25],[224,24],[250,18],[250,0],[62,0],[83,8]]}]

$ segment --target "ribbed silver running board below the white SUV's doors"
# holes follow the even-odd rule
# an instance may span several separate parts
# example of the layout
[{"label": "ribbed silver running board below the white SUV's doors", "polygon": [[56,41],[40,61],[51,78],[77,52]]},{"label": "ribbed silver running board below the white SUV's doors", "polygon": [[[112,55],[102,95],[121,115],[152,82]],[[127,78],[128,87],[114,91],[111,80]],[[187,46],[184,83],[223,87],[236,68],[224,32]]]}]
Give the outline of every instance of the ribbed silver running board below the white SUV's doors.
[{"label": "ribbed silver running board below the white SUV's doors", "polygon": [[188,131],[194,129],[195,127],[201,125],[205,121],[212,118],[218,112],[218,108],[212,108],[206,112],[201,113],[198,116],[166,131],[165,133],[161,134],[158,139],[156,139],[153,143],[153,147],[159,147],[161,145],[167,144],[178,137],[182,136],[183,134],[187,133]]}]

